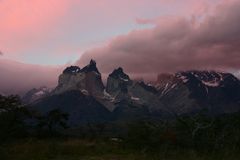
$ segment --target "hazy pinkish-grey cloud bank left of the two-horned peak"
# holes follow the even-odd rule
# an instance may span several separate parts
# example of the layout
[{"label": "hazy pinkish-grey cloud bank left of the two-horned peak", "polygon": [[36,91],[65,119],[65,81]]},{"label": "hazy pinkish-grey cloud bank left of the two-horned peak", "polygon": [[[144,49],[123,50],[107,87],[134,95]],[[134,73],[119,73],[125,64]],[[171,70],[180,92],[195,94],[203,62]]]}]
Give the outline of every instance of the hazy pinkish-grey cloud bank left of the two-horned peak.
[{"label": "hazy pinkish-grey cloud bank left of the two-horned peak", "polygon": [[0,59],[0,92],[22,94],[32,88],[57,84],[63,66],[40,66]]}]

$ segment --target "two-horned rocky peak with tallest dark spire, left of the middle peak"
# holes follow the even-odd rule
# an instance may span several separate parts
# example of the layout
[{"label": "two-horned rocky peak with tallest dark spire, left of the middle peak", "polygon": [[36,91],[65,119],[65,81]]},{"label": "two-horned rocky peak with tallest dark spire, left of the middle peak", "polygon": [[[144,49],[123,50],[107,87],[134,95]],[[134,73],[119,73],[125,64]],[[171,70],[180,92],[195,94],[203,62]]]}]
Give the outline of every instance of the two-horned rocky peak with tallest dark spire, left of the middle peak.
[{"label": "two-horned rocky peak with tallest dark spire, left of the middle peak", "polygon": [[66,68],[59,76],[58,86],[52,94],[60,94],[70,90],[79,90],[94,97],[103,95],[104,85],[95,61],[91,60],[83,69],[78,66]]}]

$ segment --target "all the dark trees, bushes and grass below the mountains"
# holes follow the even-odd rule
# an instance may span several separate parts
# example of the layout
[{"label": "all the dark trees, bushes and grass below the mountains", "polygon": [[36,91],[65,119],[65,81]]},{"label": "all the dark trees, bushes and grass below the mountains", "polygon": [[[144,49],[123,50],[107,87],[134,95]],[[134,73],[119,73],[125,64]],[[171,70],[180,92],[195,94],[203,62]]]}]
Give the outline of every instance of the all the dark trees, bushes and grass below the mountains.
[{"label": "all the dark trees, bushes and grass below the mountains", "polygon": [[29,111],[0,96],[1,160],[240,159],[240,114],[205,112],[174,120],[142,119],[68,128],[68,115]]}]

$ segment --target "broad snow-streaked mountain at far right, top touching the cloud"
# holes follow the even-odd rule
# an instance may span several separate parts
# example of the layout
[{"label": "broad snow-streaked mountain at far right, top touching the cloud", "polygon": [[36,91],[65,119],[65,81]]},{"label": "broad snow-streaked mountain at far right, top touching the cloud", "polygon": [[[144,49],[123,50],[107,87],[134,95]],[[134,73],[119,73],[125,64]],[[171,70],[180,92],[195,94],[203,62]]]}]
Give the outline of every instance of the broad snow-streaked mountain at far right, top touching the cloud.
[{"label": "broad snow-streaked mountain at far right, top touching the cloud", "polygon": [[194,112],[207,108],[233,112],[240,108],[240,81],[230,73],[186,71],[159,75],[156,88],[159,98],[177,112]]}]

